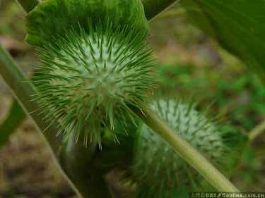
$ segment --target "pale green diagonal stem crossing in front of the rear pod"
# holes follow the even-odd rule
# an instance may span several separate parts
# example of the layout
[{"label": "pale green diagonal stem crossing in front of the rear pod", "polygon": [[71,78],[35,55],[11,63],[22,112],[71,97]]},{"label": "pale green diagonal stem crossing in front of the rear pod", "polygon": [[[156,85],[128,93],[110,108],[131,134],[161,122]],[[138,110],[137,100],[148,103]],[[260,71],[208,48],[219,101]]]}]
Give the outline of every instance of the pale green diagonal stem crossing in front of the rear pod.
[{"label": "pale green diagonal stem crossing in front of the rear pod", "polygon": [[238,192],[237,188],[225,178],[208,160],[194,149],[186,140],[176,134],[156,113],[148,107],[143,112],[132,109],[154,132],[170,144],[182,158],[220,192]]}]

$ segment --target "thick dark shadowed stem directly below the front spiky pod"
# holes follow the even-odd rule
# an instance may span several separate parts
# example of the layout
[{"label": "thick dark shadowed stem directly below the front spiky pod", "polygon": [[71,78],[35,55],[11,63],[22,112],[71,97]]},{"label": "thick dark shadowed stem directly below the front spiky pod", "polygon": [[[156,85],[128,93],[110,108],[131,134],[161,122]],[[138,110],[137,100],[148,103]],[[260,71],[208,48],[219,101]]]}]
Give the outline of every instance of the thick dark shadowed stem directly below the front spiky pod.
[{"label": "thick dark shadowed stem directly below the front spiky pod", "polygon": [[83,197],[111,198],[105,175],[93,164],[97,149],[96,142],[84,147],[71,135],[61,153],[61,166]]}]

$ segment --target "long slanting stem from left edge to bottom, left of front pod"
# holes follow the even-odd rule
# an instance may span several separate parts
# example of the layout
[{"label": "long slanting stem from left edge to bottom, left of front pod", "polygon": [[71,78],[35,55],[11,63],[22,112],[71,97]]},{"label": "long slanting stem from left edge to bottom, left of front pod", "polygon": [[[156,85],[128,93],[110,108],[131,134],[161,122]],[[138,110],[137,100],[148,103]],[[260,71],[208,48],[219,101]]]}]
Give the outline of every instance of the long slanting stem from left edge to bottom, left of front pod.
[{"label": "long slanting stem from left edge to bottom, left of front pod", "polygon": [[[37,94],[34,85],[30,82],[30,80],[28,80],[23,71],[18,68],[11,56],[1,45],[0,74],[6,81],[8,87],[11,89],[13,96],[17,99],[20,106],[25,112],[28,113],[29,116],[31,116],[31,118],[33,118],[35,126],[39,130],[40,135],[45,137],[47,144],[49,144],[48,148],[52,150],[54,161],[57,163],[59,170],[64,175],[64,178],[66,178],[66,180],[69,182],[69,185],[71,185],[73,190],[75,190],[75,192],[81,197],[80,192],[75,186],[78,180],[69,180],[68,175],[66,176],[65,174],[68,173],[66,170],[66,165],[59,161],[61,158],[62,141],[61,137],[56,135],[57,131],[59,131],[57,128],[57,123],[48,124],[43,120],[45,116],[42,113],[37,113],[36,109],[40,109],[40,106],[38,106],[36,101],[32,100],[33,94]],[[78,161],[76,161],[76,166],[78,166]]]}]

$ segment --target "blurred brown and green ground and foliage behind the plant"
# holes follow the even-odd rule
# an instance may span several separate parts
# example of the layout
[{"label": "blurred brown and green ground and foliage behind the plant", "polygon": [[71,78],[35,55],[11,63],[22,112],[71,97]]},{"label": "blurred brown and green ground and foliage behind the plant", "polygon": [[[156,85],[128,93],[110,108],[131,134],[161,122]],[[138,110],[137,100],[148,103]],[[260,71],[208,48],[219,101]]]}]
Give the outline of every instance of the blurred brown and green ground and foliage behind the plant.
[{"label": "blurred brown and green ground and foliage behind the plant", "polygon": [[[149,42],[158,62],[158,95],[211,105],[223,128],[247,135],[265,120],[265,87],[256,74],[189,23],[179,4],[151,21]],[[30,76],[37,56],[25,37],[25,13],[16,1],[0,1],[0,43]],[[12,105],[0,79],[0,123]],[[17,124],[14,123],[14,125]],[[0,131],[1,132],[1,131]],[[244,191],[265,190],[265,133],[244,144],[232,181]],[[0,150],[0,197],[74,197],[57,171],[31,120],[25,120]]]}]

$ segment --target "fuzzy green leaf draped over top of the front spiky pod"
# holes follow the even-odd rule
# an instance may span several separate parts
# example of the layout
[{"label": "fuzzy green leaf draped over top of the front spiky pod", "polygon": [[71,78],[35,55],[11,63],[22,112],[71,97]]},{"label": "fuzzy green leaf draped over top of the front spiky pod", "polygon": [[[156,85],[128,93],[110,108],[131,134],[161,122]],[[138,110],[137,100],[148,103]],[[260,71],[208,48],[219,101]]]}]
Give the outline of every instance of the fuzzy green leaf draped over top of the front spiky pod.
[{"label": "fuzzy green leaf draped over top of the front spiky pod", "polygon": [[[148,23],[140,0],[47,0],[38,4],[27,16],[26,41],[42,46],[58,34],[69,32],[71,27],[79,30],[94,25],[134,27],[131,29],[148,34]],[[104,26],[103,25],[103,26]]]}]

